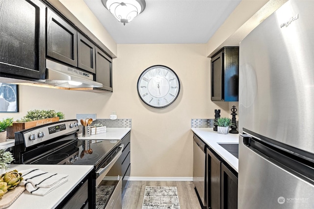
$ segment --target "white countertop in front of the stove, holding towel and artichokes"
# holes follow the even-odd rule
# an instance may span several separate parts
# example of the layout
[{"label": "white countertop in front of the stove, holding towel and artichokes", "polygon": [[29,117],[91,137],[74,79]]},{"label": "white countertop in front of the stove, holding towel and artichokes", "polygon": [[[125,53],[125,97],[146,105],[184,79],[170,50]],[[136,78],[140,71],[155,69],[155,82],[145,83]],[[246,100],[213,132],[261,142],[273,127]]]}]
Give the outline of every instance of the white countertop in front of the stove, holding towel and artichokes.
[{"label": "white countertop in front of the stove, holding towel and artichokes", "polygon": [[93,169],[93,166],[11,164],[6,172],[14,169],[21,171],[29,168],[38,168],[51,173],[68,174],[68,181],[45,196],[30,194],[25,190],[8,209],[53,209],[57,207],[70,191]]}]

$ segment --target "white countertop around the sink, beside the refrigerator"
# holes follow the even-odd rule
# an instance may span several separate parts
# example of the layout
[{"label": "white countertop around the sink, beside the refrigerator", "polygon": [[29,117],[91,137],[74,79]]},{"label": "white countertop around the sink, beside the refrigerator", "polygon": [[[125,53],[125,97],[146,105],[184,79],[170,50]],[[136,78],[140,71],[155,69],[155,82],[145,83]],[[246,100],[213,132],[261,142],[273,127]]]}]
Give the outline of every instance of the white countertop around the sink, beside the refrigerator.
[{"label": "white countertop around the sink, beside the refrigerator", "polygon": [[238,159],[218,143],[239,143],[238,134],[218,134],[212,128],[192,128],[192,131],[206,142],[222,159],[238,172]]}]

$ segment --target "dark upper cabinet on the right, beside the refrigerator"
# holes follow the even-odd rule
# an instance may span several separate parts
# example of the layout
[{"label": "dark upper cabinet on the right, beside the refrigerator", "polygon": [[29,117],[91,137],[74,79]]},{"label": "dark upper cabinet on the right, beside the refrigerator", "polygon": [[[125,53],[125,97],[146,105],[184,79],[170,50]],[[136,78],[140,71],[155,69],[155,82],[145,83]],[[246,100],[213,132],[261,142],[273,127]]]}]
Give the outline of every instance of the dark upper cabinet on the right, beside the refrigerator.
[{"label": "dark upper cabinet on the right, beside the refrigerator", "polygon": [[211,57],[211,100],[238,101],[239,47],[223,47]]}]

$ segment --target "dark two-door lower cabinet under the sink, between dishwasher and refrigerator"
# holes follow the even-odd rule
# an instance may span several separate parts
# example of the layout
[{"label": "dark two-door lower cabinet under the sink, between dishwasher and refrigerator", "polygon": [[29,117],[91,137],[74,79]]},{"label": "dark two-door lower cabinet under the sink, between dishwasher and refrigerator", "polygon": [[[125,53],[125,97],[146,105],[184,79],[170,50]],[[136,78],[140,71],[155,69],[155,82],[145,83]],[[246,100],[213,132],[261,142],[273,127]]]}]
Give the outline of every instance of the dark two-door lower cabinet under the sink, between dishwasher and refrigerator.
[{"label": "dark two-door lower cabinet under the sink, between dishwasher and refrigerator", "polygon": [[206,156],[208,208],[237,209],[237,173],[210,148]]}]

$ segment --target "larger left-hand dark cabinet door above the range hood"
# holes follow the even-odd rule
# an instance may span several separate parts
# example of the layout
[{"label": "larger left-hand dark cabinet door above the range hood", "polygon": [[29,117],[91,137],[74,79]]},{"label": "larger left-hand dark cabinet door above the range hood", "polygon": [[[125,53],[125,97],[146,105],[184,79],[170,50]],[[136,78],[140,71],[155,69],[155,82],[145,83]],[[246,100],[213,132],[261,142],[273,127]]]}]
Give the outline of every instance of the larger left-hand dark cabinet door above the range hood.
[{"label": "larger left-hand dark cabinet door above the range hood", "polygon": [[47,55],[78,67],[77,31],[50,9],[47,9]]}]

